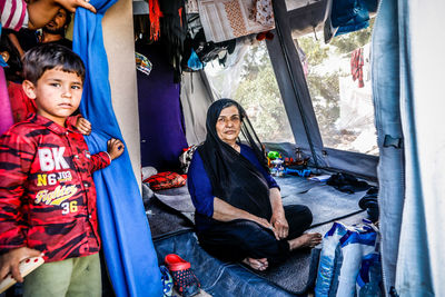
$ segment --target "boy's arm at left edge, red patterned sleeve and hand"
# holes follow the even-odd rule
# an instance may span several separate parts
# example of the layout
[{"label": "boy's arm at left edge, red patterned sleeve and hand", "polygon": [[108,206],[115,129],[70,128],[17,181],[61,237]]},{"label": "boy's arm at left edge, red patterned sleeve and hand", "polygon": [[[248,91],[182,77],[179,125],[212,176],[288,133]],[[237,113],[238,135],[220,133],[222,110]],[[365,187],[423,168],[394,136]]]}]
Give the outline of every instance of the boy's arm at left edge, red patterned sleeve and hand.
[{"label": "boy's arm at left edge, red patterned sleeve and hand", "polygon": [[41,254],[26,247],[26,227],[19,224],[23,185],[34,154],[36,147],[26,137],[7,131],[0,138],[0,279],[12,271],[21,281],[19,261]]}]

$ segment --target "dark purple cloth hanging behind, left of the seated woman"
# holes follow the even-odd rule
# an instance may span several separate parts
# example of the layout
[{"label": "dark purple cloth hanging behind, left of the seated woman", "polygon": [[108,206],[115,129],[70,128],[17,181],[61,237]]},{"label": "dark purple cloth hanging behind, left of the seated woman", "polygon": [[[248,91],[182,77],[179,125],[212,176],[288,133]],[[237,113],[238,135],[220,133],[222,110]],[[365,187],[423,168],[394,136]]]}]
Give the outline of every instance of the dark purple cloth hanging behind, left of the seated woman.
[{"label": "dark purple cloth hanging behind, left of the seated woman", "polygon": [[180,86],[174,83],[174,68],[159,44],[136,43],[136,50],[150,58],[152,70],[149,77],[138,71],[138,110],[141,166],[161,171],[178,171],[179,155],[188,147]]}]

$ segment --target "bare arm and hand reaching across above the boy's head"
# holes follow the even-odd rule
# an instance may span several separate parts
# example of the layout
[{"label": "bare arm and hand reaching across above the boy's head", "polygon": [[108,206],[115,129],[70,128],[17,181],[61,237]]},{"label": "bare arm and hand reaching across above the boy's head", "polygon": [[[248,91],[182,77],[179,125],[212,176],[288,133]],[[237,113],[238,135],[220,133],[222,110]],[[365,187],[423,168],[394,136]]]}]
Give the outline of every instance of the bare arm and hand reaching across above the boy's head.
[{"label": "bare arm and hand reaching across above the boy's head", "polygon": [[85,0],[31,0],[28,3],[29,29],[39,29],[50,22],[63,7],[70,12],[83,7],[96,13],[96,8]]}]

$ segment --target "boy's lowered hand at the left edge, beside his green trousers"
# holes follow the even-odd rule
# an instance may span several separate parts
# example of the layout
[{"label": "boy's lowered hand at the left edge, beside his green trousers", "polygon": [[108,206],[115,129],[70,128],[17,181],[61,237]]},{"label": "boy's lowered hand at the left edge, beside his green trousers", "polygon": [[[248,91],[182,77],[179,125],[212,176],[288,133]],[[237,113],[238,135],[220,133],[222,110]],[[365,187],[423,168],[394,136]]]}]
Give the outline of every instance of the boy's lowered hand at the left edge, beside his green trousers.
[{"label": "boy's lowered hand at the left edge, beside his green trousers", "polygon": [[20,261],[42,255],[43,254],[40,250],[28,247],[16,248],[2,255],[0,257],[0,280],[3,279],[9,273],[11,273],[12,277],[17,281],[22,283],[23,277],[20,275],[19,270]]}]

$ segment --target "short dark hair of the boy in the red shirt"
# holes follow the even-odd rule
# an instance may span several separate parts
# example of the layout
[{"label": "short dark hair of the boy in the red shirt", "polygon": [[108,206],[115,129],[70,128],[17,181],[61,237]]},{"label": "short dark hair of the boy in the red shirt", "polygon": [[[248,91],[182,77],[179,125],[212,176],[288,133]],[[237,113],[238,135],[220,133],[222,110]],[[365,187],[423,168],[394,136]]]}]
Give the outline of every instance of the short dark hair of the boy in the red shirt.
[{"label": "short dark hair of the boy in the red shirt", "polygon": [[78,75],[85,80],[85,66],[80,57],[60,44],[40,44],[28,50],[22,59],[24,79],[37,85],[44,71],[55,68]]}]

